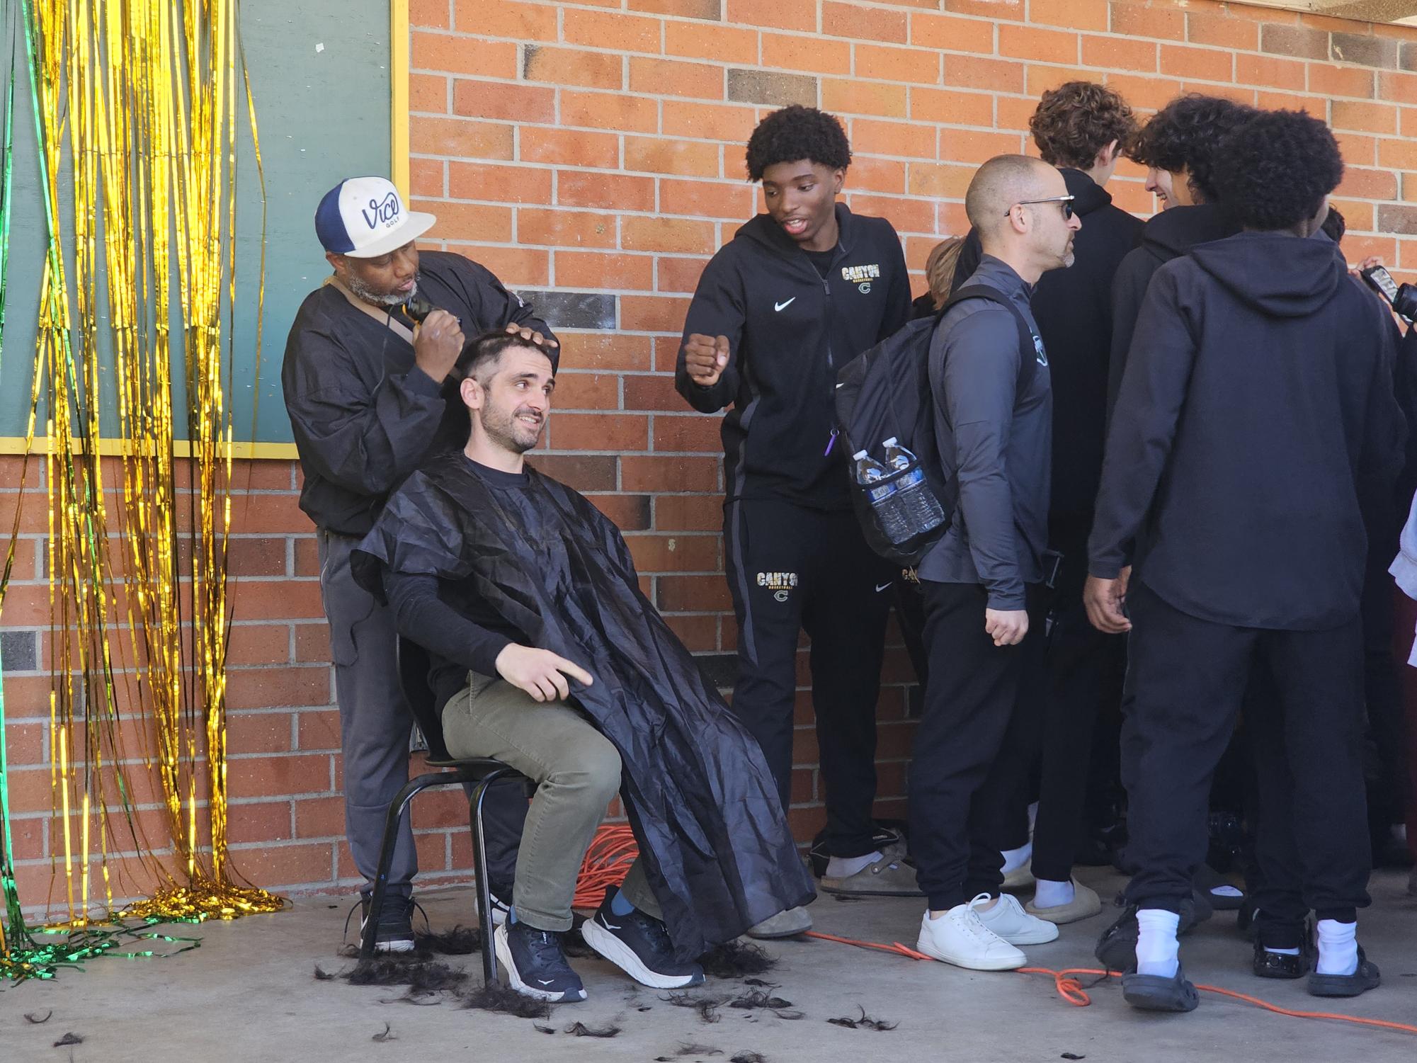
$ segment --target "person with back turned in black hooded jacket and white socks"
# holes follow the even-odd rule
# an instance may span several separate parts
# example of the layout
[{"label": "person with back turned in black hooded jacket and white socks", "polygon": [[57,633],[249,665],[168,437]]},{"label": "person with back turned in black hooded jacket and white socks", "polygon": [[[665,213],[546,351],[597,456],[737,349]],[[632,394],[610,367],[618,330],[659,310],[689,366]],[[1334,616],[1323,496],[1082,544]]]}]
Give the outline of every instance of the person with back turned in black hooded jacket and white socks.
[{"label": "person with back turned in black hooded jacket and white socks", "polygon": [[1196,1006],[1176,931],[1255,665],[1275,692],[1246,706],[1254,741],[1275,750],[1257,757],[1275,765],[1261,804],[1288,809],[1260,831],[1260,947],[1298,950],[1312,910],[1309,992],[1379,981],[1355,941],[1370,869],[1359,597],[1403,422],[1383,308],[1315,235],[1342,173],[1333,135],[1305,113],[1258,115],[1226,139],[1216,180],[1246,231],[1152,278],[1112,415],[1085,598],[1102,631],[1132,632],[1138,940],[1122,989],[1138,1008]]}]

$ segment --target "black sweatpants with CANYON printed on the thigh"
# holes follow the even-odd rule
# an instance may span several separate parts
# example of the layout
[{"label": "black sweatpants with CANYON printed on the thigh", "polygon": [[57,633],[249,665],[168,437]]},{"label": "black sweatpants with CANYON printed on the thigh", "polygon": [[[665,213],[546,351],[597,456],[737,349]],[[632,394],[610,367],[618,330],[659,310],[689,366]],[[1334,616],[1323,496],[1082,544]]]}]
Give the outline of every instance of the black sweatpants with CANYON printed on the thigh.
[{"label": "black sweatpants with CANYON printed on the thigh", "polygon": [[724,543],[738,617],[733,710],[762,747],[788,808],[796,652],[806,631],[823,845],[832,856],[864,856],[874,849],[876,702],[897,570],[866,546],[853,513],[778,499],[724,506]]}]

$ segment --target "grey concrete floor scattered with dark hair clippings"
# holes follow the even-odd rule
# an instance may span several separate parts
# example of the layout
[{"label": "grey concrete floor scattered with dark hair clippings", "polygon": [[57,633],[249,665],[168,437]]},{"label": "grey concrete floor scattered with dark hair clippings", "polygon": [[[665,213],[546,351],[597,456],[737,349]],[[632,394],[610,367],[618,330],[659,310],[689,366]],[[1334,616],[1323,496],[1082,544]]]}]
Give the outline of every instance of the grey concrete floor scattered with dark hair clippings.
[{"label": "grey concrete floor scattered with dark hair clippings", "polygon": [[[1104,896],[1121,880],[1101,869],[1083,879]],[[1360,1015],[1417,1025],[1417,899],[1406,896],[1406,873],[1384,872],[1373,882],[1373,909],[1363,916],[1362,940],[1383,969],[1383,986],[1357,1001],[1322,1005],[1302,982],[1261,982],[1248,974],[1250,948],[1219,914],[1183,943],[1187,972],[1197,982],[1260,995],[1281,1006]],[[466,921],[463,890],[421,896],[434,928]],[[778,967],[764,975],[774,992],[805,1012],[801,1020],[765,1012],[724,1009],[707,1025],[694,1011],[662,1003],[655,991],[635,991],[619,971],[599,961],[574,961],[591,999],[563,1005],[547,1036],[507,1015],[465,1011],[456,1003],[414,1008],[384,1003],[400,988],[356,988],[317,982],[316,962],[341,969],[336,948],[349,899],[305,897],[279,916],[211,924],[197,930],[201,948],[166,961],[99,960],[86,971],[51,982],[28,982],[0,992],[0,1063],[224,1063],[225,1060],[653,1060],[676,1056],[684,1043],[699,1052],[684,1060],[727,1063],[740,1052],[768,1063],[866,1063],[869,1060],[955,1059],[985,1062],[1057,1060],[1063,1053],[1091,1063],[1115,1060],[1403,1060],[1417,1059],[1417,1035],[1315,1022],[1267,1013],[1212,994],[1197,1012],[1158,1016],[1134,1012],[1115,986],[1093,991],[1093,1006],[1064,1003],[1051,979],[1039,975],[976,974],[944,964],[917,962],[819,940],[778,943]],[[873,941],[914,944],[920,901],[822,897],[812,907],[819,930]],[[1030,948],[1040,967],[1091,967],[1093,944],[1111,917],[1104,911],[1063,928],[1058,941]],[[177,933],[187,933],[186,930]],[[478,957],[452,957],[478,974]],[[717,982],[697,992],[738,991]],[[639,1006],[650,1011],[636,1011]],[[898,1022],[888,1032],[842,1029],[826,1019],[857,1008]],[[52,1018],[30,1025],[26,1012]],[[619,1023],[612,1040],[574,1037],[571,1023]],[[391,1026],[395,1039],[373,1042]],[[84,1037],[55,1049],[65,1032]],[[718,1049],[723,1054],[708,1054]],[[65,1054],[68,1053],[68,1054]]]}]

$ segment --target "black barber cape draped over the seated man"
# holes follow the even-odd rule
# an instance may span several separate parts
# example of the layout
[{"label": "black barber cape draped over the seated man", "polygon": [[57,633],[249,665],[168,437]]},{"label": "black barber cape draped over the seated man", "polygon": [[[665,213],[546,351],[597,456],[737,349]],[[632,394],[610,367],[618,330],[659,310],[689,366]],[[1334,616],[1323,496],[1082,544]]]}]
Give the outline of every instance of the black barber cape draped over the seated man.
[{"label": "black barber cape draped over the seated man", "polygon": [[[639,590],[619,530],[529,469],[486,485],[462,454],[390,497],[351,564],[383,597],[383,566],[476,595],[530,645],[585,668],[572,697],[619,750],[621,797],[679,960],[813,899],[762,751]],[[529,529],[543,529],[541,536]],[[558,534],[557,534],[558,533]]]}]

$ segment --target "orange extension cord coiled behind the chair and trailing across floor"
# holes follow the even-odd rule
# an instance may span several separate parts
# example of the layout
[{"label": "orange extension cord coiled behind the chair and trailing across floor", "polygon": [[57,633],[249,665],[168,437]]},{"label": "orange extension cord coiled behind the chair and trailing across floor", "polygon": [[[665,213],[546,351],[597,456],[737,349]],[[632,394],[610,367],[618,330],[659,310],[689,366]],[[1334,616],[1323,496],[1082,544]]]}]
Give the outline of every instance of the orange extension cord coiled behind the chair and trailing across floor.
[{"label": "orange extension cord coiled behind the chair and trailing across floor", "polygon": [[[629,873],[629,866],[635,862],[636,856],[639,856],[639,846],[636,845],[635,833],[629,829],[629,826],[623,823],[601,826],[595,832],[595,839],[591,842],[591,848],[585,850],[585,860],[581,863],[581,873],[575,880],[574,907],[598,909],[601,901],[605,900],[605,887],[619,886]],[[934,958],[925,955],[924,952],[917,952],[914,948],[903,945],[900,941],[883,945],[877,941],[857,941],[850,937],[823,934],[819,930],[806,931],[806,937],[820,938],[822,941],[836,941],[837,944],[854,945],[856,948],[870,948],[879,952],[893,952],[894,955],[901,955],[907,960]],[[1020,967],[1019,974],[1046,974],[1051,977],[1053,986],[1058,991],[1058,996],[1077,1008],[1087,1008],[1093,1002],[1093,998],[1088,996],[1087,989],[1078,981],[1080,975],[1093,978],[1121,978],[1121,974],[1117,971],[1100,971],[1090,967],[1068,967],[1063,971],[1053,971],[1047,967]],[[1270,1003],[1268,1001],[1261,1001],[1258,996],[1250,996],[1248,994],[1236,992],[1234,989],[1223,989],[1219,985],[1200,985],[1197,982],[1196,988],[1207,994],[1217,994],[1220,996],[1230,996],[1236,1001],[1253,1003],[1255,1008],[1264,1008],[1264,1011],[1274,1012],[1275,1015],[1288,1015],[1291,1019],[1332,1019],[1333,1022],[1352,1022],[1357,1026],[1376,1026],[1384,1030],[1417,1033],[1417,1026],[1408,1026],[1401,1022],[1363,1019],[1356,1015],[1336,1015],[1333,1012],[1301,1012],[1291,1008],[1281,1008],[1277,1003]]]}]

